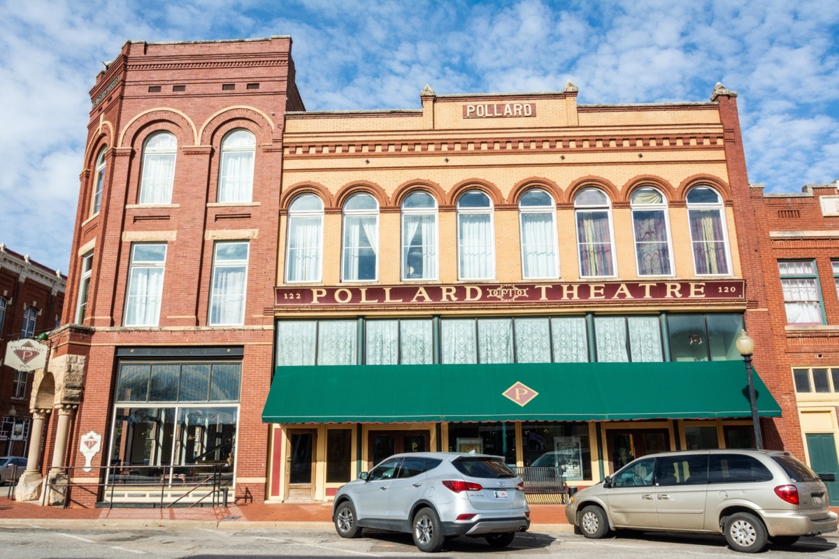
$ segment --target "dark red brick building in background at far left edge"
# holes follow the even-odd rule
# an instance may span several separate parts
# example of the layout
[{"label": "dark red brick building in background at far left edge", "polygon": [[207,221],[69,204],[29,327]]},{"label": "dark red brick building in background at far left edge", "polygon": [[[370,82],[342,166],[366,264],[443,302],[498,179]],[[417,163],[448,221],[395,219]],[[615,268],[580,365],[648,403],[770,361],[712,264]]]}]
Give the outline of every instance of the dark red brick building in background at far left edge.
[{"label": "dark red brick building in background at far left edge", "polygon": [[67,277],[0,243],[0,456],[29,450],[33,374],[3,365],[6,345],[60,325]]}]

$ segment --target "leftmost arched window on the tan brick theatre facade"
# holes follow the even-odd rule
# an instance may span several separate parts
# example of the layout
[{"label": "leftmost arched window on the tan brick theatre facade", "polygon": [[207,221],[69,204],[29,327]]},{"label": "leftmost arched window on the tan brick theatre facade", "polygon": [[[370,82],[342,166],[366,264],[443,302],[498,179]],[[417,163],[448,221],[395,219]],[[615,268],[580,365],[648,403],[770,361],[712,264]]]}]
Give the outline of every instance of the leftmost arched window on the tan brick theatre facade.
[{"label": "leftmost arched window on the tan brick theatre facade", "polygon": [[323,269],[323,202],[301,194],[289,205],[286,282],[320,282]]}]

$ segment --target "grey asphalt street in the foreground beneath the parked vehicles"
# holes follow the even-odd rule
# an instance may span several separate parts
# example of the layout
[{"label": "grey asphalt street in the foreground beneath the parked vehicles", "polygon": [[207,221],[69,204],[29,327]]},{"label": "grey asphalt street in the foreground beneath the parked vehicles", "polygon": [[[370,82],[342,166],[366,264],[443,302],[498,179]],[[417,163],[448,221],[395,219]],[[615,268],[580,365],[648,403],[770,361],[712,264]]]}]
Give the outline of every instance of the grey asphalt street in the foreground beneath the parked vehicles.
[{"label": "grey asphalt street in the foreground beneath the parked vehicles", "polygon": [[[802,538],[795,546],[769,546],[761,556],[839,557],[839,538]],[[126,530],[125,527],[86,530],[23,523],[0,527],[0,559],[125,559],[159,557],[192,559],[220,557],[405,557],[443,559],[458,557],[524,557],[531,555],[602,559],[618,557],[746,557],[729,549],[721,536],[687,536],[621,533],[600,541],[586,540],[571,532],[528,532],[516,536],[505,549],[494,549],[482,539],[460,537],[438,554],[414,547],[411,536],[365,532],[355,540],[341,539],[323,530],[214,530],[204,527],[168,527]]]}]

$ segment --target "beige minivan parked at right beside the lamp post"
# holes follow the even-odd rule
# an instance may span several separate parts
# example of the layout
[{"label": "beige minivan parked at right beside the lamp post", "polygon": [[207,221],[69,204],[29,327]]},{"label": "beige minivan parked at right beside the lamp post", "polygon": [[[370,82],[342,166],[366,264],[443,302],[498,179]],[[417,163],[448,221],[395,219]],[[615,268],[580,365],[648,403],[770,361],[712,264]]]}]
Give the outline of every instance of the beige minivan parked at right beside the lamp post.
[{"label": "beige minivan parked at right beside the lamp post", "polygon": [[836,531],[822,480],[791,454],[763,450],[649,454],[575,494],[565,516],[588,538],[618,528],[722,533],[747,553]]}]

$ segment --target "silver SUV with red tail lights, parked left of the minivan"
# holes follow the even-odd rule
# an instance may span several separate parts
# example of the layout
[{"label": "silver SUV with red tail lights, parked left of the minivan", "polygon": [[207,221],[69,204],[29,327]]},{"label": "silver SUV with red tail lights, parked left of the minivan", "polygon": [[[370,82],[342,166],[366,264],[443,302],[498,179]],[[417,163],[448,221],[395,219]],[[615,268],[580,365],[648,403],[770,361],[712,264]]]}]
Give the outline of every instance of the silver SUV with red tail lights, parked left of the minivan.
[{"label": "silver SUV with red tail lights, parked left of the minivan", "polygon": [[508,546],[529,528],[530,510],[524,483],[500,456],[405,453],[338,489],[332,520],[341,537],[377,528],[411,533],[420,551],[440,551],[454,536]]}]

